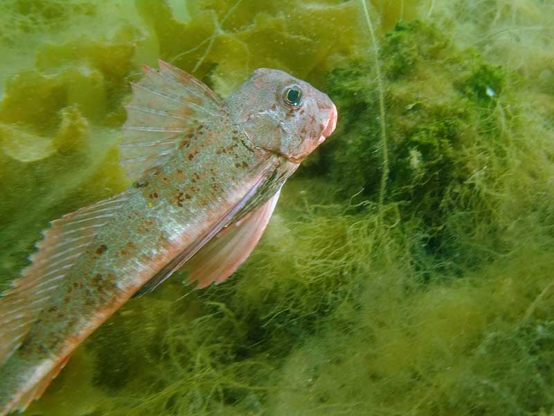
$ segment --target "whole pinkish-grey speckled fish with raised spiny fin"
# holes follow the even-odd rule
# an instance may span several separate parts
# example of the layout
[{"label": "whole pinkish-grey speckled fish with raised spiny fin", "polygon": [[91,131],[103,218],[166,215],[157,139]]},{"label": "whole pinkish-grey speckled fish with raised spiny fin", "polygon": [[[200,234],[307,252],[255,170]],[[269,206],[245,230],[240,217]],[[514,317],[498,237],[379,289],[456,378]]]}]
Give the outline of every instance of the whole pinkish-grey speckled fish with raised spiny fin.
[{"label": "whole pinkish-grey speckled fish with raised spiny fin", "polygon": [[0,415],[39,398],[87,336],[132,297],[188,270],[194,288],[243,263],[281,187],[329,137],[337,108],[278,69],[222,100],[159,61],[132,83],[116,196],[50,223],[0,297]]}]

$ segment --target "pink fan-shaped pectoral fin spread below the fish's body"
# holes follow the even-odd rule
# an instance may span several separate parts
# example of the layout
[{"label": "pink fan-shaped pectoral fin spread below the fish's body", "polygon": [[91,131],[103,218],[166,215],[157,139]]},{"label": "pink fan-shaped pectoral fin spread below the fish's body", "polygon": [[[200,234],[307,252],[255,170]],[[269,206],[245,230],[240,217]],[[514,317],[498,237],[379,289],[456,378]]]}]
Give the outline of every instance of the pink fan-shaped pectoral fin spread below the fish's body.
[{"label": "pink fan-shaped pectoral fin spread below the fish's body", "polygon": [[185,265],[189,270],[188,281],[197,281],[196,287],[203,288],[231,276],[260,241],[279,199],[279,193],[280,191],[246,218],[223,229],[204,245]]}]

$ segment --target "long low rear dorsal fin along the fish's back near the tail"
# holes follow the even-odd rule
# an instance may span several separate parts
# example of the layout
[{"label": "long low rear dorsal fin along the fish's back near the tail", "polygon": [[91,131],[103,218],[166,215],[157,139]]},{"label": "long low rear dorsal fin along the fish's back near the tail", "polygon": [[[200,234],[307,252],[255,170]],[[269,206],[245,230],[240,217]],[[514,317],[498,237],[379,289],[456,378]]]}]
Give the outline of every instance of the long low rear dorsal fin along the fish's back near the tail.
[{"label": "long low rear dorsal fin along the fish's back near the tail", "polygon": [[37,243],[38,251],[30,256],[33,263],[0,297],[0,365],[21,345],[54,289],[98,230],[128,199],[129,192],[125,191],[96,202],[52,221],[51,227],[43,232],[44,239]]}]

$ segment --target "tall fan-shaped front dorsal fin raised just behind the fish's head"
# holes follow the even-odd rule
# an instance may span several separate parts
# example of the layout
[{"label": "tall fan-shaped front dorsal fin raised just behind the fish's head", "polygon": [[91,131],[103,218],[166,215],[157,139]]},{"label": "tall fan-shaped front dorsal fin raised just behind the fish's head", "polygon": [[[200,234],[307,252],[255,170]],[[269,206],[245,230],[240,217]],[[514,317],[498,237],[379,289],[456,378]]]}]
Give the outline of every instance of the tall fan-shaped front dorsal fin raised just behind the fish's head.
[{"label": "tall fan-shaped front dorsal fin raised just behind the fish's head", "polygon": [[158,64],[159,70],[143,67],[125,107],[120,163],[133,179],[164,164],[197,125],[224,115],[223,101],[204,83],[166,62]]}]

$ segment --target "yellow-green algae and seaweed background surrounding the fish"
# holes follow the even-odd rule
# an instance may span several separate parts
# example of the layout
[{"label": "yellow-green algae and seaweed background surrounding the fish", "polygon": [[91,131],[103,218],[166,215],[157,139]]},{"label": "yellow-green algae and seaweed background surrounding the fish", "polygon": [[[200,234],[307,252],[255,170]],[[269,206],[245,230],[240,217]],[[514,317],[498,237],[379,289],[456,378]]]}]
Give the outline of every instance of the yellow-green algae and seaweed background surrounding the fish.
[{"label": "yellow-green algae and seaweed background surrounding the fish", "polygon": [[339,108],[232,279],[132,300],[26,414],[552,415],[553,15],[3,0],[1,288],[48,220],[129,183],[116,144],[141,63],[223,96],[277,67]]}]

